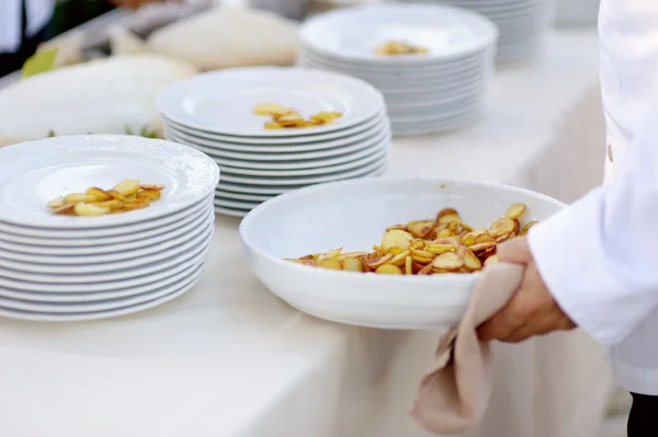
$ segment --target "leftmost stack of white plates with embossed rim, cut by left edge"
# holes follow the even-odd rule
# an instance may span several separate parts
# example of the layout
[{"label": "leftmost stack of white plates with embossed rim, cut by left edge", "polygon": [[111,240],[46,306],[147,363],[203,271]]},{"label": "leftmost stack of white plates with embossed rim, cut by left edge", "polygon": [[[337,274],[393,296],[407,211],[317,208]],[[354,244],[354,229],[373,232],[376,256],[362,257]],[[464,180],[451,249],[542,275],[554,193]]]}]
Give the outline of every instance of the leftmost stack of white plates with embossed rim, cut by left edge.
[{"label": "leftmost stack of white plates with embossed rim, cut by left edge", "polygon": [[[161,184],[144,209],[54,215],[48,200],[121,180]],[[156,307],[192,288],[214,230],[217,165],[169,141],[71,136],[0,149],[0,315],[72,321]]]}]

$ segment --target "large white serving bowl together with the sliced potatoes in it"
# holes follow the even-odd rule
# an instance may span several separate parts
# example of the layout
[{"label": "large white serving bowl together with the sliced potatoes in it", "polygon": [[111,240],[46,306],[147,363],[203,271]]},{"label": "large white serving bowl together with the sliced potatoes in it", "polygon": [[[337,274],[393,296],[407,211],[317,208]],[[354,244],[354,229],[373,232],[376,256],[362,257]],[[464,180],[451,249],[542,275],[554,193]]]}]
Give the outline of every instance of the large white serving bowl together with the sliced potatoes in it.
[{"label": "large white serving bowl together with the sliced potatoes in it", "polygon": [[292,307],[352,325],[457,324],[498,244],[565,205],[439,177],[336,182],[283,194],[240,226],[249,266]]}]

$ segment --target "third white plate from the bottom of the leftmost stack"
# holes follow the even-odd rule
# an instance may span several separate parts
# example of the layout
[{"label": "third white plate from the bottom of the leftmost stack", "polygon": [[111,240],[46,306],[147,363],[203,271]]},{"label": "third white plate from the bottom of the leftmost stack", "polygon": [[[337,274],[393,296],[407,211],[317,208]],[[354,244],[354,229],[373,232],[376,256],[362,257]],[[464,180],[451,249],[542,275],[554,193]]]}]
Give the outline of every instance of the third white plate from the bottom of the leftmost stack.
[{"label": "third white plate from the bottom of the leftmost stack", "polygon": [[9,292],[31,292],[42,294],[52,296],[61,295],[94,295],[102,292],[126,292],[131,290],[149,290],[152,289],[157,284],[164,281],[167,278],[171,278],[174,275],[179,275],[182,272],[192,268],[206,258],[209,250],[209,244],[204,249],[195,250],[193,253],[184,254],[173,262],[164,263],[160,269],[149,272],[148,275],[138,275],[125,279],[111,280],[98,284],[86,284],[86,283],[38,283],[29,280],[16,280],[0,276],[0,287]]}]

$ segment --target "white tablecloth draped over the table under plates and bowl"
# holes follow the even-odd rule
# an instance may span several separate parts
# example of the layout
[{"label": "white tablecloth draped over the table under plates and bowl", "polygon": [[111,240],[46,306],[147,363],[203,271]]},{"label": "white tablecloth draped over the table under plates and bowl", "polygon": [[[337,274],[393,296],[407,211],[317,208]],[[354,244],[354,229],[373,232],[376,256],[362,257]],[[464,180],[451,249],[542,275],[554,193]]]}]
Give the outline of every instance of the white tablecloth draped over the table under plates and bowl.
[{"label": "white tablecloth draped over the table under plates and bowl", "polygon": [[[571,125],[556,123],[595,87],[597,53],[593,32],[552,35],[540,62],[499,72],[477,126],[396,140],[390,173],[513,181],[572,199],[598,182],[602,139],[566,141],[556,135]],[[574,119],[598,133],[589,101]],[[0,320],[0,435],[423,436],[407,407],[438,334],[296,312],[250,275],[237,226],[217,219],[204,279],[161,308],[89,323]],[[585,335],[500,346],[496,366],[479,436],[594,436],[610,379]]]}]

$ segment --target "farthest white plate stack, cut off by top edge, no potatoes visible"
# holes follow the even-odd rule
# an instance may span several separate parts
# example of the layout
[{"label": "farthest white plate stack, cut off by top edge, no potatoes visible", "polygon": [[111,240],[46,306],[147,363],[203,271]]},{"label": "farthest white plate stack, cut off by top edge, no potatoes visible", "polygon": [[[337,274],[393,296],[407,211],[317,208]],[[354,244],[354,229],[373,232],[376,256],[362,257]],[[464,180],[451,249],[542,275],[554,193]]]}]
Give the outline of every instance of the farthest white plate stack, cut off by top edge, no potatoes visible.
[{"label": "farthest white plate stack, cut off by top edge, no potatoes visible", "polygon": [[430,1],[469,9],[496,23],[500,31],[496,56],[499,65],[524,62],[535,58],[543,46],[555,12],[554,0]]}]

